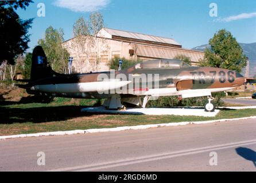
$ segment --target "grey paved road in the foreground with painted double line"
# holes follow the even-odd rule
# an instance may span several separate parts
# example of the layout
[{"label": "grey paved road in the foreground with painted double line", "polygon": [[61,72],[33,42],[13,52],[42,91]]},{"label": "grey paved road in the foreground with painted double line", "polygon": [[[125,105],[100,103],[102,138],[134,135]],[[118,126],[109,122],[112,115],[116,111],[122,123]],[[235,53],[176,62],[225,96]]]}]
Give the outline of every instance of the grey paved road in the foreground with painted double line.
[{"label": "grey paved road in the foreground with painted double line", "polygon": [[[245,120],[5,140],[0,170],[256,171],[255,132],[256,121]],[[37,165],[38,152],[45,153],[45,166]],[[210,165],[211,152],[217,166]]]}]

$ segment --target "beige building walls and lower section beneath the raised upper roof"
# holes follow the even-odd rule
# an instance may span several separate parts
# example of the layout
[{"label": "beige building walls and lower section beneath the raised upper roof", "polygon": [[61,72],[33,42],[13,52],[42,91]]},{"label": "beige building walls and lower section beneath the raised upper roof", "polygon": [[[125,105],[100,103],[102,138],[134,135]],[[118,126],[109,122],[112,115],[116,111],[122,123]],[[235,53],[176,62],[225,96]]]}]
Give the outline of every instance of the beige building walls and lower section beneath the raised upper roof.
[{"label": "beige building walls and lower section beneath the raised upper roof", "polygon": [[[71,57],[73,57],[73,67],[77,67],[79,63],[77,62],[77,53],[72,47],[73,39],[63,43],[64,47],[68,50]],[[158,59],[167,58],[173,59],[176,55],[184,54],[191,58],[193,65],[204,57],[204,53],[200,51],[193,51],[187,49],[170,48],[170,47],[160,47],[152,45],[143,45],[139,43],[131,43],[124,41],[116,41],[113,39],[98,38],[99,42],[99,55],[100,55],[100,67],[98,71],[108,71],[109,67],[107,63],[114,57],[126,58],[126,59]],[[102,49],[102,42],[107,44],[107,49]],[[129,54],[129,50],[133,49],[135,51],[134,55]],[[90,60],[93,58],[90,57]],[[76,70],[77,71],[77,70]]]}]

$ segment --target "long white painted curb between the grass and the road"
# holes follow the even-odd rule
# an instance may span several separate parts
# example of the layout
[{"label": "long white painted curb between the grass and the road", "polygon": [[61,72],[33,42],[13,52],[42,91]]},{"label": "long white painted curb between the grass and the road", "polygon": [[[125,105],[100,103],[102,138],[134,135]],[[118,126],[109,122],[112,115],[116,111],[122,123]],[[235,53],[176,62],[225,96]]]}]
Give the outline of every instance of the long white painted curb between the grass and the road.
[{"label": "long white painted curb between the grass and the road", "polygon": [[245,118],[234,118],[234,119],[222,119],[222,120],[211,120],[211,121],[194,121],[194,122],[172,122],[169,124],[154,124],[154,125],[138,125],[138,126],[124,126],[118,128],[105,128],[105,129],[88,129],[88,130],[72,130],[65,132],[45,132],[35,134],[20,134],[14,136],[0,136],[0,140],[6,140],[8,138],[24,138],[24,137],[43,137],[43,136],[64,136],[72,134],[84,134],[84,133],[99,133],[99,132],[118,132],[124,130],[142,130],[149,128],[159,128],[165,126],[179,126],[189,124],[210,124],[214,122],[225,122],[225,121],[238,121],[238,120],[249,120],[256,119],[256,116],[245,117]]}]

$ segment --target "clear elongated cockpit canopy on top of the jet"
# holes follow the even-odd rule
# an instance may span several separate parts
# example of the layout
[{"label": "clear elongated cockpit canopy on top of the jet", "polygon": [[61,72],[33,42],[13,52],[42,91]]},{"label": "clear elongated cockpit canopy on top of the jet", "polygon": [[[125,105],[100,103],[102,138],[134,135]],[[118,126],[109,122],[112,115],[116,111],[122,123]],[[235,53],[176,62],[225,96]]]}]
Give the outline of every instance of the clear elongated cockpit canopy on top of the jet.
[{"label": "clear elongated cockpit canopy on top of the jet", "polygon": [[156,59],[138,63],[134,69],[180,69],[183,67],[190,67],[190,65],[179,59]]}]

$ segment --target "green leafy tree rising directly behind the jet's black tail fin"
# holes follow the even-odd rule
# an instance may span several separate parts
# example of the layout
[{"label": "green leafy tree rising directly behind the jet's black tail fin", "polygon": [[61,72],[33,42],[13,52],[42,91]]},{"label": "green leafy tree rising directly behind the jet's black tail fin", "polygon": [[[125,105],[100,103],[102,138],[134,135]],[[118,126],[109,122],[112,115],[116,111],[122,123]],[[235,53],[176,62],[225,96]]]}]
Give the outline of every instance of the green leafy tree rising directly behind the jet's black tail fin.
[{"label": "green leafy tree rising directly behind the jet's black tail fin", "polygon": [[38,45],[44,49],[48,62],[53,70],[68,73],[68,51],[63,47],[63,29],[53,29],[49,26],[45,30],[45,38],[38,40]]}]

